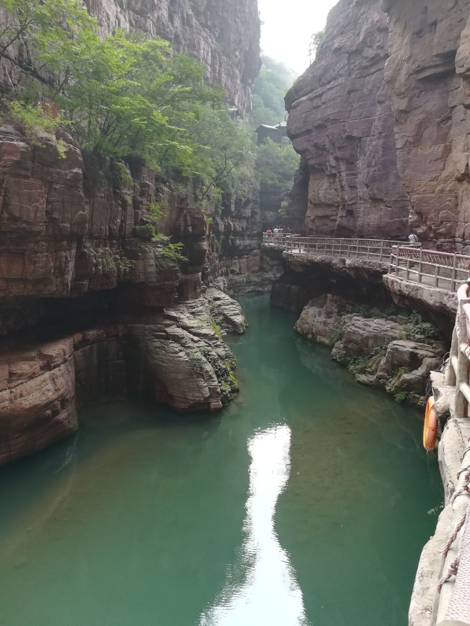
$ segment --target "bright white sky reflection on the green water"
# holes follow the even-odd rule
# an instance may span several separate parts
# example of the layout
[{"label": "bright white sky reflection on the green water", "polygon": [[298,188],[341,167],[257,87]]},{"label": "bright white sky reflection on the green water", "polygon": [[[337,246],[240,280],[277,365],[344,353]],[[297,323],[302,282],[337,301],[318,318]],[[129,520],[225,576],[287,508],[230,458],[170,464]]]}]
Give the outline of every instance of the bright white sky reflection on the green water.
[{"label": "bright white sky reflection on the green water", "polygon": [[290,557],[274,530],[274,511],[290,474],[291,431],[276,424],[248,440],[251,458],[245,539],[224,589],[200,626],[308,626]]}]

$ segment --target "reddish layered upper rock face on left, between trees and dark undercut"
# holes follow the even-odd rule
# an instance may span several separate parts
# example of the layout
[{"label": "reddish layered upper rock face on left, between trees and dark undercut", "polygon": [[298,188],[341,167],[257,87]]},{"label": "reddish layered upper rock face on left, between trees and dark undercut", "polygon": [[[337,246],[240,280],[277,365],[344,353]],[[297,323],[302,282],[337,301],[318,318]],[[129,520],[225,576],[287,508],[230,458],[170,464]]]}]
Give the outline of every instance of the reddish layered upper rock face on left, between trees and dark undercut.
[{"label": "reddish layered upper rock face on left, between trees and dark undercut", "polygon": [[157,195],[155,173],[135,168],[131,188],[83,162],[63,137],[66,158],[58,160],[52,140],[32,146],[14,131],[0,133],[0,333],[46,319],[50,298],[116,287],[123,302],[148,307],[199,298],[204,213],[188,195],[165,192],[164,232],[184,244],[187,257],[180,269],[163,254],[163,240],[139,231],[143,207]]}]

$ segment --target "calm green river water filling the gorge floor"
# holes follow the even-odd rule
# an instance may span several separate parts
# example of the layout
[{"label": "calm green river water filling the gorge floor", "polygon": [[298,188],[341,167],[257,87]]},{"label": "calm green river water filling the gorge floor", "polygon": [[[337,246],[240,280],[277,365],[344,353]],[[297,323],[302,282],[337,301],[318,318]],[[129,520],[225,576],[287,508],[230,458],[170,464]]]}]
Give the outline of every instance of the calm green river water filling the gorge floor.
[{"label": "calm green river water filling the gorge floor", "polygon": [[267,297],[220,414],[125,403],[0,471],[4,626],[405,626],[442,500],[413,409]]}]

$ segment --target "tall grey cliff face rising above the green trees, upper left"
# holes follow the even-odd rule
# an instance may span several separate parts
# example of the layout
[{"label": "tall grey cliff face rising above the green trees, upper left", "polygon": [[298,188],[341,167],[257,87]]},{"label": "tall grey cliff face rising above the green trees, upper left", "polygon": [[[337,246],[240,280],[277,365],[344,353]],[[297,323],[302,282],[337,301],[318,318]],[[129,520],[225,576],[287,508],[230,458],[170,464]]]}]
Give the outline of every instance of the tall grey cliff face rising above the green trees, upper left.
[{"label": "tall grey cliff face rising above the green trees, upper left", "polygon": [[[115,28],[139,29],[167,39],[178,53],[201,61],[207,83],[224,88],[227,106],[239,117],[251,110],[251,89],[261,67],[257,0],[86,0],[85,4],[98,19],[102,35]],[[4,17],[0,9],[0,21]],[[23,56],[16,45],[1,61],[1,90],[21,81]]]}]

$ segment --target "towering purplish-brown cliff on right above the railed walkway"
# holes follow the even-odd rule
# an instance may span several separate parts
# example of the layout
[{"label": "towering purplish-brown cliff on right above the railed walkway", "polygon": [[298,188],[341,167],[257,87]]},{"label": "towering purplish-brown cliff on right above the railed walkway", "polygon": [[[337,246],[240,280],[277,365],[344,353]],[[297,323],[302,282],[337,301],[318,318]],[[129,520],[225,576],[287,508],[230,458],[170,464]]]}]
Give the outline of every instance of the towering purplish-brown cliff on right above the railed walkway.
[{"label": "towering purplish-brown cliff on right above the railed walkway", "polygon": [[469,14],[467,0],[332,9],[286,96],[308,165],[306,232],[403,239],[411,227],[424,245],[469,252]]}]

